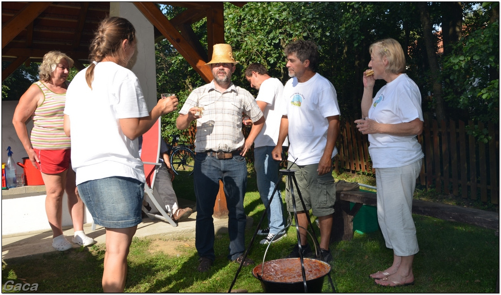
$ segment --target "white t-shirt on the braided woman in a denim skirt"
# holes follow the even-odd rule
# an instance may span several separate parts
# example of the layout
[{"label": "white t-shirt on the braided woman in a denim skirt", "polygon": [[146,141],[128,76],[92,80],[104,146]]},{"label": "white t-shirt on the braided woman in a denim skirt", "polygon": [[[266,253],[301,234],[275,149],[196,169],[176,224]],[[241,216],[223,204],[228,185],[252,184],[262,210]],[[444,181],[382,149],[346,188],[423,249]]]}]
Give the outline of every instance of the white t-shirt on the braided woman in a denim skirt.
[{"label": "white t-shirt on the braided woman in a denim skirt", "polygon": [[92,90],[84,69],[66,92],[64,113],[70,116],[71,162],[77,184],[111,176],[145,182],[138,140],[130,140],[120,118],[148,115],[136,75],[114,62],[99,62],[94,69]]}]

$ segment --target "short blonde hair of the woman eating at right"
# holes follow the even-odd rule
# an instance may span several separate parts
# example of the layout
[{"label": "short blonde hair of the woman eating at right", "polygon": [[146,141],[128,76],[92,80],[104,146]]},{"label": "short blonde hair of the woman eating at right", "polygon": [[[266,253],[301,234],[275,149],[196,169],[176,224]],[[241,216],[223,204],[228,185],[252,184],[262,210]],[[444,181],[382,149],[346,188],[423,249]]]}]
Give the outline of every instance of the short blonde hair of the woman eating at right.
[{"label": "short blonde hair of the woman eating at right", "polygon": [[405,55],[400,43],[392,38],[382,39],[372,43],[369,47],[369,53],[388,59],[387,71],[395,74],[405,72]]}]

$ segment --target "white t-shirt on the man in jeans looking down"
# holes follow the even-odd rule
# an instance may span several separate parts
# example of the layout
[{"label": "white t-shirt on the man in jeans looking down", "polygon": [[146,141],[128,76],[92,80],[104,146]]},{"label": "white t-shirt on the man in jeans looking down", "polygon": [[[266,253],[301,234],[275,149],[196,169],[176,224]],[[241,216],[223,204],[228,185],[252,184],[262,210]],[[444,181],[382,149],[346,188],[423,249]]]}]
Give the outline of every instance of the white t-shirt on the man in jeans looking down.
[{"label": "white t-shirt on the man in jeans looking down", "polygon": [[[261,132],[259,132],[254,140],[254,147],[277,145],[280,121],[282,120],[280,109],[284,105],[284,100],[282,99],[283,93],[284,85],[277,78],[268,78],[261,83],[256,100],[267,103],[263,111],[266,121],[263,129],[261,129]],[[287,145],[289,145],[289,140],[286,138],[282,146]]]}]

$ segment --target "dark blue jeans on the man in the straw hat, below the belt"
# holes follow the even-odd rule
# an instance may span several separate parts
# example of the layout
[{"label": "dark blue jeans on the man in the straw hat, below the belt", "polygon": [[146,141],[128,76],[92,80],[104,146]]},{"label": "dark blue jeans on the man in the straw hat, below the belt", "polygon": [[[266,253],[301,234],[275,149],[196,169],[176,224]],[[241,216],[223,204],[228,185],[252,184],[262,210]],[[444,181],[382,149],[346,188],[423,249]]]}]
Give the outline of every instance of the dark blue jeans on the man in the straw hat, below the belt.
[{"label": "dark blue jeans on the man in the straw hat, below the belt", "polygon": [[228,259],[235,260],[245,250],[245,223],[243,197],[247,186],[245,158],[235,155],[230,159],[217,159],[197,152],[194,168],[196,196],[195,247],[200,257],[215,259],[214,254],[214,203],[222,180],[228,206]]}]

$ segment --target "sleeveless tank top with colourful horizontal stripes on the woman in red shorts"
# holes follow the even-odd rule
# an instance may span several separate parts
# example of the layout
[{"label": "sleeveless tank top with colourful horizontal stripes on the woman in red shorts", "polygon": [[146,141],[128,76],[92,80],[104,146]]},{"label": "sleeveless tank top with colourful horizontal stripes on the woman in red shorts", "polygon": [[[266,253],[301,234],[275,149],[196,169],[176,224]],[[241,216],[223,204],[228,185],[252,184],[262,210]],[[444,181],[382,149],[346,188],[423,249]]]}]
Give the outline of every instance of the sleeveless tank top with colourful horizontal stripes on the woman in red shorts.
[{"label": "sleeveless tank top with colourful horizontal stripes on the woman in red shorts", "polygon": [[33,113],[31,143],[37,149],[68,149],[70,137],[63,128],[66,93],[58,94],[41,81],[35,82],[44,93],[44,101]]}]

